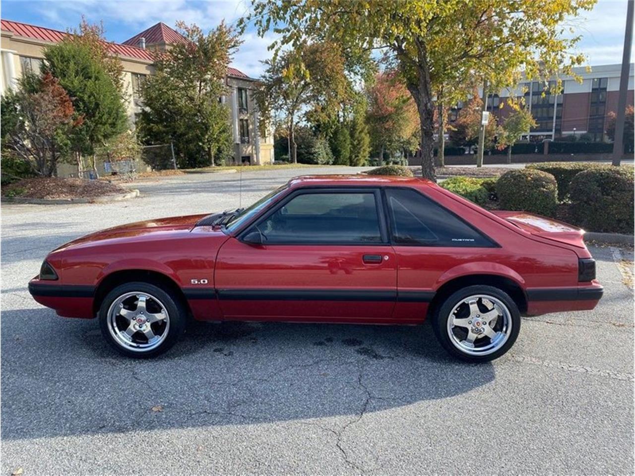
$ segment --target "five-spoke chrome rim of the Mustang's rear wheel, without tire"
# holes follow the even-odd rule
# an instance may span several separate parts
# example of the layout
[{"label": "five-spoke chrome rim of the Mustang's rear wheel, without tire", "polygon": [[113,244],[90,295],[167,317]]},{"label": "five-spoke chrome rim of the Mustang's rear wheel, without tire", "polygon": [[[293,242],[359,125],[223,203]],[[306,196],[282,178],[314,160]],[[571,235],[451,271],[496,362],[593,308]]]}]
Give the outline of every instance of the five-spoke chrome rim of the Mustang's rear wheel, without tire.
[{"label": "five-spoke chrome rim of the Mustang's rear wheel, without tire", "polygon": [[505,345],[512,330],[509,308],[488,294],[474,294],[450,311],[448,336],[468,355],[488,355]]}]

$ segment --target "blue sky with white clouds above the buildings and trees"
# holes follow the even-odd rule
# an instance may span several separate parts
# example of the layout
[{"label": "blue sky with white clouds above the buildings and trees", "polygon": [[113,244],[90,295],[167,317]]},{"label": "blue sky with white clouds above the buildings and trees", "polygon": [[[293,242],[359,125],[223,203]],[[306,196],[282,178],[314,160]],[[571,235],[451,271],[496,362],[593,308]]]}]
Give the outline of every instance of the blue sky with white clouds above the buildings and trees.
[{"label": "blue sky with white clouds above the buildings and trees", "polygon": [[[60,30],[75,27],[85,15],[90,22],[103,20],[108,39],[121,42],[157,22],[174,27],[177,20],[184,20],[203,29],[214,27],[223,18],[235,23],[249,6],[250,2],[244,0],[2,0],[0,15]],[[599,0],[592,11],[568,22],[575,34],[583,36],[579,50],[588,56],[589,65],[622,61],[625,17],[625,0]],[[233,65],[258,77],[262,72],[260,60],[271,56],[267,46],[273,39],[273,34],[260,38],[248,29]]]}]

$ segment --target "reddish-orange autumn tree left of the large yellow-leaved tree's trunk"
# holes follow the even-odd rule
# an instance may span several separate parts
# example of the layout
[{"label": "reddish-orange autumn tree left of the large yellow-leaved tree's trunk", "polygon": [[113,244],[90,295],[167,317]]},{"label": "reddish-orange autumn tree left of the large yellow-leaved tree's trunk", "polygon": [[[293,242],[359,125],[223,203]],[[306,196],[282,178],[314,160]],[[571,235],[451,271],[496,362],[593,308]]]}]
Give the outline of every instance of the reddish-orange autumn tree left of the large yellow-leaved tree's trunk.
[{"label": "reddish-orange autumn tree left of the large yellow-leaved tree's trunk", "polygon": [[417,106],[396,72],[378,74],[368,91],[368,124],[371,143],[379,149],[379,164],[384,150],[395,152],[418,129]]}]

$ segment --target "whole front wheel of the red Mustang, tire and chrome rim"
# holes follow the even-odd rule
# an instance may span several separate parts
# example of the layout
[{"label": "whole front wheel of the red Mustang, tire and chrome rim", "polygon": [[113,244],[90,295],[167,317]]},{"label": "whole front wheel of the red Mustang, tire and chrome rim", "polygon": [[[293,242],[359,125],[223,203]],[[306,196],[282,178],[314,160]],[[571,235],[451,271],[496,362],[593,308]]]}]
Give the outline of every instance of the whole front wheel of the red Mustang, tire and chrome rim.
[{"label": "whole front wheel of the red Mustang, tire and chrome rim", "polygon": [[185,319],[178,296],[147,282],[117,286],[99,310],[104,338],[128,357],[154,357],[165,352],[183,333]]}]

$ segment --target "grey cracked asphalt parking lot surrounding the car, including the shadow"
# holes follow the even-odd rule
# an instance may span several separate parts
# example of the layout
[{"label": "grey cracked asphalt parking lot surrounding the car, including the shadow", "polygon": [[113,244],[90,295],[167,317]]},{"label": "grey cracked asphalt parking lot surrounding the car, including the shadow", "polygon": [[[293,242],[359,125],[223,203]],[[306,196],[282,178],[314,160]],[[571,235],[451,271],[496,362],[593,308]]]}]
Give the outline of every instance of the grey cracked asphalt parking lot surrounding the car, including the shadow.
[{"label": "grey cracked asphalt parking lot surrounding the car, including the shadow", "polygon": [[244,206],[297,174],[2,205],[3,475],[633,473],[627,249],[590,247],[605,286],[596,310],[525,318],[512,350],[479,365],[447,357],[428,325],[201,323],[159,359],[129,360],[97,321],[57,317],[27,292],[46,253],[79,235]]}]

